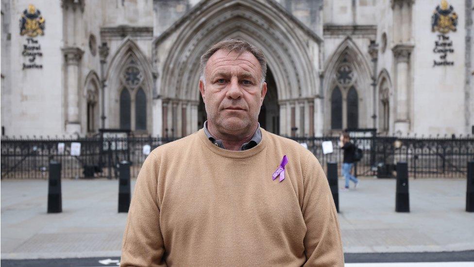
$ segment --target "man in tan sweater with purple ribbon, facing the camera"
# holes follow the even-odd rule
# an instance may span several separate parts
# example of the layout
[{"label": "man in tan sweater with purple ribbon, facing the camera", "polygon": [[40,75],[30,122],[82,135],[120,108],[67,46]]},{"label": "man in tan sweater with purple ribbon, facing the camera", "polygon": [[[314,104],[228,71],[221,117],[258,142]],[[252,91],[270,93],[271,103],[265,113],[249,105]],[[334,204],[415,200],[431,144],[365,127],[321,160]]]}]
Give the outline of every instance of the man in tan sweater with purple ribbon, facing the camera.
[{"label": "man in tan sweater with purple ribbon, facing the camera", "polygon": [[120,266],[343,266],[318,160],[259,127],[262,51],[222,41],[201,57],[203,129],[154,149],[138,175]]}]

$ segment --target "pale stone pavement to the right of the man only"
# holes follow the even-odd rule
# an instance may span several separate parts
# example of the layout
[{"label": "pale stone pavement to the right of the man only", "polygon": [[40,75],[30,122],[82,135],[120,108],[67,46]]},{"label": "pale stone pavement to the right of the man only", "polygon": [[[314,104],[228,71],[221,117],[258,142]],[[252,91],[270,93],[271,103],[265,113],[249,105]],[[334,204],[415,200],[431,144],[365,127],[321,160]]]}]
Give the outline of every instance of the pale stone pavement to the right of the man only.
[{"label": "pale stone pavement to the right of the man only", "polygon": [[411,179],[410,213],[395,212],[395,182],[366,178],[356,190],[339,193],[345,252],[474,249],[465,179]]}]

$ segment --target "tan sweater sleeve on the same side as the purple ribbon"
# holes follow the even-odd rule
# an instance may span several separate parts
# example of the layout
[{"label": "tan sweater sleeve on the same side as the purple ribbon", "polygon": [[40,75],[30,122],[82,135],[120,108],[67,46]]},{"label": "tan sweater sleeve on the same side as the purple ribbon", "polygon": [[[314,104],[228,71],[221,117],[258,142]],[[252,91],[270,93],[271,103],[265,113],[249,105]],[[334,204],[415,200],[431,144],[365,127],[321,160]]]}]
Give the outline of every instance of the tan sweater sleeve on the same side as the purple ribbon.
[{"label": "tan sweater sleeve on the same side as the purple ribbon", "polygon": [[338,214],[326,175],[310,154],[303,173],[302,213],[306,224],[304,266],[344,266]]}]

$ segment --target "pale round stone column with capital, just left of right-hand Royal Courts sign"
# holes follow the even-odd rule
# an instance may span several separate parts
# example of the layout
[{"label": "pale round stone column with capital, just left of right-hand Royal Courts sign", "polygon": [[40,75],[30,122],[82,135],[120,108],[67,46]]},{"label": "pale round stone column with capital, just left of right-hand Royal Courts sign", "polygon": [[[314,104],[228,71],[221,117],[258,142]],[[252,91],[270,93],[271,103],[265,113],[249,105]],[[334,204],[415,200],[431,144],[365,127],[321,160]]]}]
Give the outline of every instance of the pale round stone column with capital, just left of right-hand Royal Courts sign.
[{"label": "pale round stone column with capital, just left of right-hand Royal Courts sign", "polygon": [[395,57],[395,91],[396,91],[396,117],[395,131],[406,134],[410,129],[409,119],[409,95],[410,95],[410,54],[413,50],[411,45],[396,45],[393,47]]}]

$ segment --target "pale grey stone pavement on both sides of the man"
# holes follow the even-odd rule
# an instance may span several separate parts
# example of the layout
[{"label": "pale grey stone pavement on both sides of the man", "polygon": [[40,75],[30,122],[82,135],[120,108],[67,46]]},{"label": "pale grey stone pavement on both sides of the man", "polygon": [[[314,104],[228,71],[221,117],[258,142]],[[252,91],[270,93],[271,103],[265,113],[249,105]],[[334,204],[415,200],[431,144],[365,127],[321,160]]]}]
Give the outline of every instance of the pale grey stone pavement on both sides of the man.
[{"label": "pale grey stone pavement on both sides of the man", "polygon": [[[409,187],[409,214],[394,212],[393,179],[364,178],[356,190],[340,192],[344,251],[474,249],[465,179],[417,179]],[[63,180],[60,214],[46,213],[47,193],[46,180],[1,181],[2,260],[120,255],[127,214],[117,212],[117,180]]]}]

